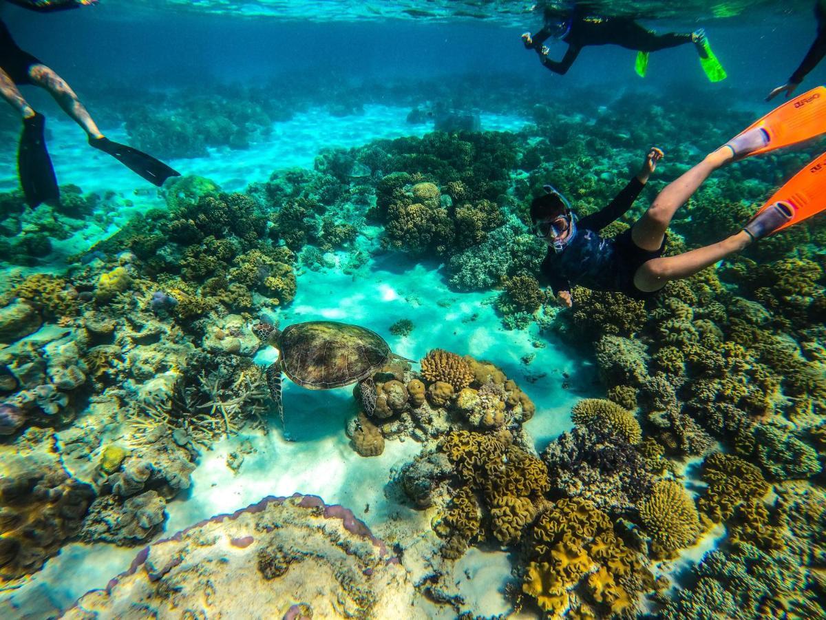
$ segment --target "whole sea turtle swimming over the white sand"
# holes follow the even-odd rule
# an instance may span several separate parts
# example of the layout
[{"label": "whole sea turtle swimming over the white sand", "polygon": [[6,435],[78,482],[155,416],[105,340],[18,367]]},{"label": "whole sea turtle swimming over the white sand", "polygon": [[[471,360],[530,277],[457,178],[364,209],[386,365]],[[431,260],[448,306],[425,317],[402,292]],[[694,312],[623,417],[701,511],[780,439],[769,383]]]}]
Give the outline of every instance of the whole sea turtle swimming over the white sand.
[{"label": "whole sea turtle swimming over the white sand", "polygon": [[[284,331],[270,323],[253,327],[261,341],[278,348],[278,360],[267,369],[267,384],[282,420],[282,372],[306,389],[340,388],[358,381],[364,411],[376,408],[373,374],[388,360],[408,360],[390,351],[375,331],[336,321],[307,321],[287,326]],[[415,363],[415,362],[414,362]]]}]

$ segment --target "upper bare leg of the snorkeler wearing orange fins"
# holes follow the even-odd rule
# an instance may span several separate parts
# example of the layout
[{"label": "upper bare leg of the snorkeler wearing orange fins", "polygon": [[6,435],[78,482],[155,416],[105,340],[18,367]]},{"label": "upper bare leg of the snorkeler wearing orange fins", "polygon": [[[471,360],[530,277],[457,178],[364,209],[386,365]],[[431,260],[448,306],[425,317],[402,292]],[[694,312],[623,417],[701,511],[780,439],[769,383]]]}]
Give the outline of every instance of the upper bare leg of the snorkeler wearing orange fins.
[{"label": "upper bare leg of the snorkeler wearing orange fins", "polygon": [[691,194],[697,191],[697,188],[709,178],[714,170],[733,159],[734,154],[731,149],[720,148],[706,155],[705,160],[668,184],[654,199],[651,207],[648,207],[648,211],[643,213],[643,217],[634,223],[631,229],[631,239],[634,244],[651,252],[659,250],[676,210],[688,202]]}]

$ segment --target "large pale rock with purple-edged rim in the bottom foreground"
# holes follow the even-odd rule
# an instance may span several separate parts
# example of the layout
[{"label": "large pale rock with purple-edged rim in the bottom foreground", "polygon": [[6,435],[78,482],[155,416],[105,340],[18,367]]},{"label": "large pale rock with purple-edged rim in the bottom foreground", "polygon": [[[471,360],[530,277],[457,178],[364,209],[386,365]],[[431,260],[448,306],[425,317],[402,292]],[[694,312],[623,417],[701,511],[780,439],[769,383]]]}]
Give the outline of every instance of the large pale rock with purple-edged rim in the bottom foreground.
[{"label": "large pale rock with purple-edged rim in the bottom foreground", "polygon": [[296,494],[264,498],[146,547],[64,618],[126,618],[140,601],[141,614],[159,618],[205,604],[210,616],[284,618],[303,604],[315,618],[424,620],[414,598],[406,570],[353,513]]}]

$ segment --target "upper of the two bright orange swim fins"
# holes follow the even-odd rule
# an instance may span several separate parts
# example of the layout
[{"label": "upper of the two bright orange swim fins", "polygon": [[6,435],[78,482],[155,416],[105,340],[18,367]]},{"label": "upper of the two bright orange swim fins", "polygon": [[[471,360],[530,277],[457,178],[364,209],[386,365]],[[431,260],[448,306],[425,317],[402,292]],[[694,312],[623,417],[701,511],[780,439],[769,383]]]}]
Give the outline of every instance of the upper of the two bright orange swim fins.
[{"label": "upper of the two bright orange swim fins", "polygon": [[[732,143],[736,144],[740,136],[757,128],[765,132],[765,145],[755,150],[748,149],[742,155],[738,153]],[[806,141],[822,133],[826,133],[826,87],[819,86],[776,107],[735,136],[729,145],[732,145],[738,159],[743,159]]]}]

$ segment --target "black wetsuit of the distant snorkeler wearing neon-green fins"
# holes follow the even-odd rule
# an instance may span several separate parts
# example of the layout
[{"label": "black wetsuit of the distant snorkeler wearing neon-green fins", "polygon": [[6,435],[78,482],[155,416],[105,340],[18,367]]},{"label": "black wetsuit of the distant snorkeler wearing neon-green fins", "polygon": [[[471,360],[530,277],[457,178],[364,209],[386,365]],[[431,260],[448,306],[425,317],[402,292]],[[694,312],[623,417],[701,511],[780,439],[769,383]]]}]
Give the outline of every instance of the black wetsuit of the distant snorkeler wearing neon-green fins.
[{"label": "black wetsuit of the distant snorkeler wearing neon-green fins", "polygon": [[[567,33],[563,35],[562,41],[568,44],[568,49],[563,60],[550,60],[545,57],[542,62],[558,74],[567,73],[586,45],[619,45],[629,50],[653,52],[692,42],[691,33],[686,35],[669,32],[659,35],[643,28],[630,17],[596,17],[574,12],[566,25]],[[558,29],[558,25],[545,26],[533,37],[531,47],[537,51],[541,50],[544,42]]]}]

